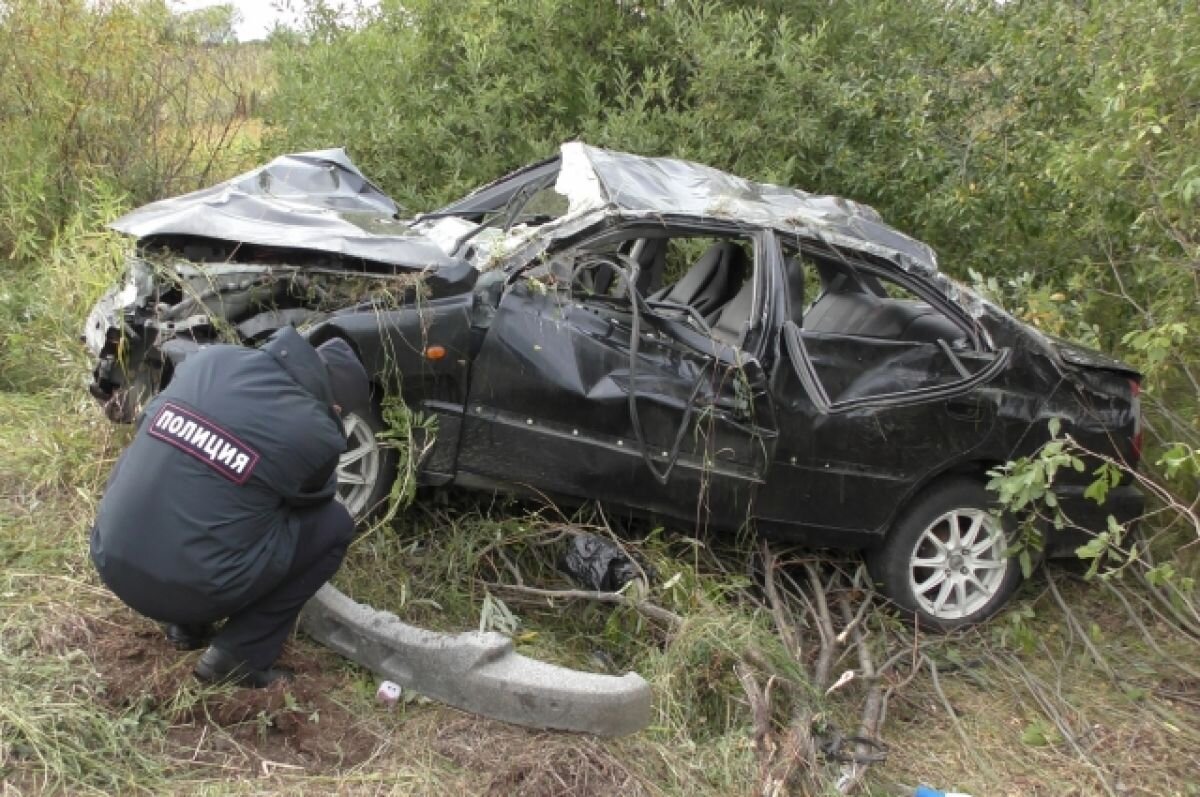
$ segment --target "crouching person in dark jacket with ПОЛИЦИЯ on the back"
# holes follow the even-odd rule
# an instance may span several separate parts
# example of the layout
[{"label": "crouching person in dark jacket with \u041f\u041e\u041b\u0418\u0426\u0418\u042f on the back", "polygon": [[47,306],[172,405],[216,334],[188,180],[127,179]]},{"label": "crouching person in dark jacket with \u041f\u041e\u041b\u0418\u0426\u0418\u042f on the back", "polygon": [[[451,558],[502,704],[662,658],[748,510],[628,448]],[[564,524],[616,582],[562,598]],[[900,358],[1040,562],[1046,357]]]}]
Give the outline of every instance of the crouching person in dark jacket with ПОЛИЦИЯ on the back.
[{"label": "crouching person in dark jacket with \u041f\u041e\u041b\u0418\u0426\u0418\u042f on the back", "polygon": [[176,648],[211,639],[199,679],[262,688],[292,676],[276,659],[354,531],[334,499],[340,414],[368,401],[344,341],[313,348],[287,326],[260,349],[192,355],[139,417],[100,503],[91,559]]}]

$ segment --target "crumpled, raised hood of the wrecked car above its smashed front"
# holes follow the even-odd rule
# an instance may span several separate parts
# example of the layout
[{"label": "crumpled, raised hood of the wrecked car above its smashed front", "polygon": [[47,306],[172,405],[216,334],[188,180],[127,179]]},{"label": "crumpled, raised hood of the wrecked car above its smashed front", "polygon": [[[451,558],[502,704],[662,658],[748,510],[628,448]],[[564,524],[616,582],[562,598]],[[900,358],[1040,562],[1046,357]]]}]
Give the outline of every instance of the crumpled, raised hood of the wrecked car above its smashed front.
[{"label": "crumpled, raised hood of the wrecked car above its smashed front", "polygon": [[196,235],[413,269],[456,263],[398,212],[344,150],[328,149],[283,155],[212,187],[143,205],[109,226],[139,239]]}]

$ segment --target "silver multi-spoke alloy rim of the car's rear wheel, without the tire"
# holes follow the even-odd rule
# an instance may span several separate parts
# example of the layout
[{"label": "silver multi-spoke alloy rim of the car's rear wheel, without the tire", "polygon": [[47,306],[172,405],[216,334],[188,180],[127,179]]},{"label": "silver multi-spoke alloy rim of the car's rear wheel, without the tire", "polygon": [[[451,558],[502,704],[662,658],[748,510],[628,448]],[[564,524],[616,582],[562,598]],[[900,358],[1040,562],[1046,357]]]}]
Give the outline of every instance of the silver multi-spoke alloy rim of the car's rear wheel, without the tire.
[{"label": "silver multi-spoke alloy rim of the car's rear wheel, without the tire", "polygon": [[917,605],[938,619],[985,607],[1008,573],[1003,525],[984,509],[953,509],[925,527],[908,562]]}]

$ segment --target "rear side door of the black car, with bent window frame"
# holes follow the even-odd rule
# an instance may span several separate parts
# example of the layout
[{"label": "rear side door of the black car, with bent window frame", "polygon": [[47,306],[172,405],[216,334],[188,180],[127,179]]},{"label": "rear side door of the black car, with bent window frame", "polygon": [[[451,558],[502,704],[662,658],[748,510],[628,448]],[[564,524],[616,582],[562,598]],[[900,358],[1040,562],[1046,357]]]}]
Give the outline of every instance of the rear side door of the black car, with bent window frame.
[{"label": "rear side door of the black car, with bent window frame", "polygon": [[[793,252],[785,272],[815,268]],[[780,439],[756,516],[814,544],[858,546],[929,474],[986,442],[1008,353],[932,292],[895,298],[866,263],[829,263],[808,280],[816,301],[792,302],[781,330],[772,379]],[[794,296],[805,280],[785,282]]]}]

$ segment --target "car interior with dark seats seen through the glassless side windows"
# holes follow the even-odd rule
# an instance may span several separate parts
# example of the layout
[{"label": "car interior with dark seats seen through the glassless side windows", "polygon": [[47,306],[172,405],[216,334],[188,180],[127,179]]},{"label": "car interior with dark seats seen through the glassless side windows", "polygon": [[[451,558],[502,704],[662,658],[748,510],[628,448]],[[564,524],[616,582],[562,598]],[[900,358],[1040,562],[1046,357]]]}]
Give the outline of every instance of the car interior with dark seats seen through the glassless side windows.
[{"label": "car interior with dark seats seen through the glassless side windows", "polygon": [[[728,346],[743,343],[754,308],[750,240],[666,234],[625,239],[606,248],[636,262],[637,290],[647,306],[680,316]],[[580,260],[574,295],[625,306],[629,295],[618,269],[607,264],[602,248],[589,254],[599,258]],[[802,253],[790,244],[784,256],[792,319],[803,329],[830,397],[863,397],[962,377],[954,352],[970,350],[971,338],[942,310],[864,264]]]}]

